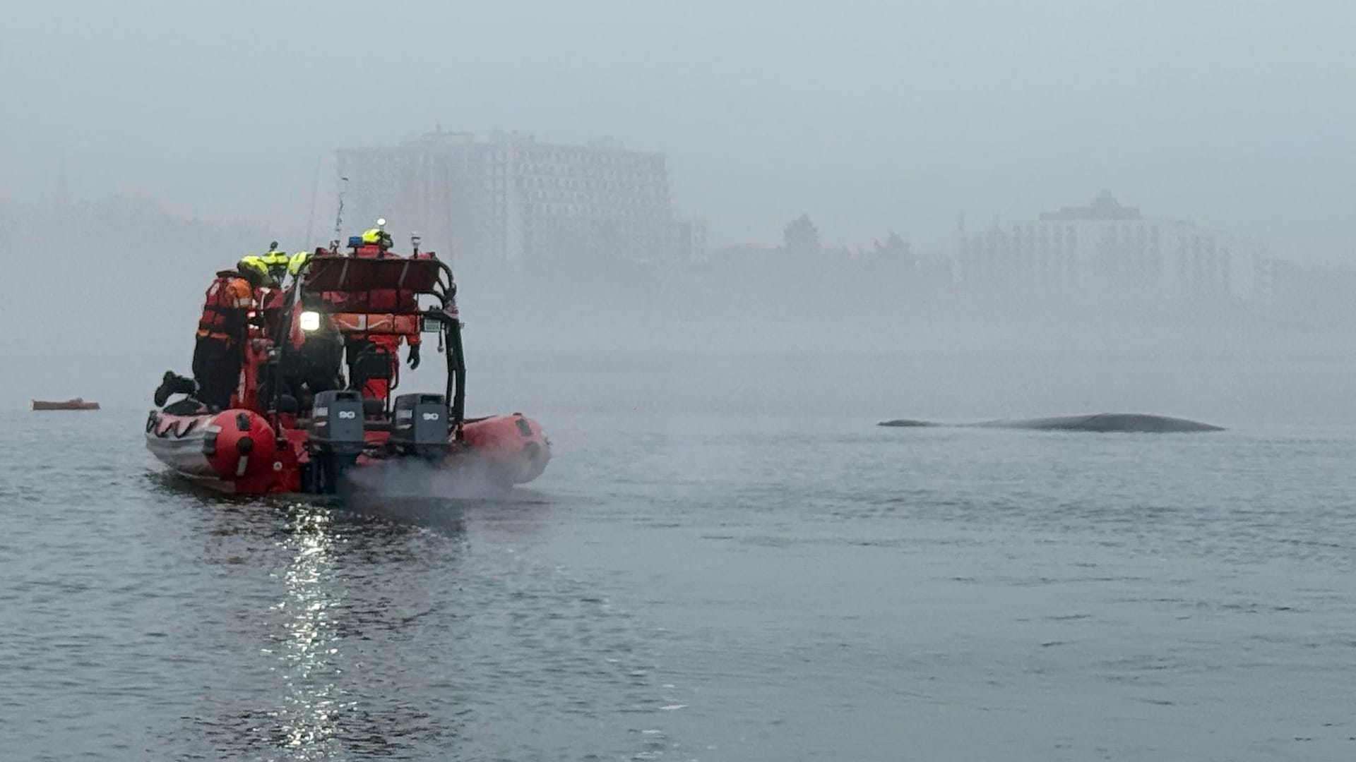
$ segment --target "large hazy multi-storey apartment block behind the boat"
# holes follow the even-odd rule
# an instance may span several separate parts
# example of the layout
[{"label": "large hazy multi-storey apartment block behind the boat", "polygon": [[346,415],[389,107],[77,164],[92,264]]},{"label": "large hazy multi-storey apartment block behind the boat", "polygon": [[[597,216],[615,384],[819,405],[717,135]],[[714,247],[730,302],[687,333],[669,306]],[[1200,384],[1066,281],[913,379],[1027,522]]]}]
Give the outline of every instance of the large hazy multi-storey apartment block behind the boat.
[{"label": "large hazy multi-storey apartment block behind the boat", "polygon": [[347,148],[346,216],[386,217],[427,245],[500,263],[702,260],[706,228],[674,212],[663,153],[441,129],[399,145]]}]

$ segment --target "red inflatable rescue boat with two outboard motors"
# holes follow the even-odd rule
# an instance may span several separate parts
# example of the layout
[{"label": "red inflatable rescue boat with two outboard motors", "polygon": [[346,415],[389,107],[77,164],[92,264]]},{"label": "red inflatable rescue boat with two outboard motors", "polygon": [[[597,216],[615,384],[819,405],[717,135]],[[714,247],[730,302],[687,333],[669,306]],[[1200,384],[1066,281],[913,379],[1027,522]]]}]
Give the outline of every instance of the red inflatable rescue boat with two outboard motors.
[{"label": "red inflatable rescue boat with two outboard motors", "polygon": [[[346,476],[377,469],[395,469],[403,484],[454,485],[466,476],[509,488],[537,479],[551,442],[536,420],[518,412],[465,418],[456,282],[433,252],[419,255],[418,244],[415,252],[363,259],[339,254],[338,245],[317,249],[286,292],[273,339],[262,327],[251,328],[231,407],[213,411],[187,399],[152,409],[146,447],[184,477],[250,495],[334,494]],[[347,388],[289,393],[294,389],[279,381],[281,369],[302,348],[292,332],[277,329],[286,325],[300,327],[302,346],[321,327],[344,336],[435,335],[446,384],[437,392],[395,393],[399,362],[376,357],[359,363],[363,377],[348,378]],[[365,382],[384,373],[384,396],[365,393]]]}]

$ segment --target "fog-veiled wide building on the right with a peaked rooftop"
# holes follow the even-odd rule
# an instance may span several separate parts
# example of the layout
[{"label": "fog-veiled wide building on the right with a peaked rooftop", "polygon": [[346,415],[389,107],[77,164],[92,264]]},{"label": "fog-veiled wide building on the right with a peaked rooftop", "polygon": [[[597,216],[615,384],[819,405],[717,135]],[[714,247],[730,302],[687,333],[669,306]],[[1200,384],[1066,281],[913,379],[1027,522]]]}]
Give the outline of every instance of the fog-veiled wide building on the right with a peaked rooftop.
[{"label": "fog-veiled wide building on the right with a peaked rooftop", "polygon": [[1264,302],[1264,245],[1189,221],[1153,220],[1101,193],[1089,206],[994,225],[955,241],[959,285],[1064,304]]}]

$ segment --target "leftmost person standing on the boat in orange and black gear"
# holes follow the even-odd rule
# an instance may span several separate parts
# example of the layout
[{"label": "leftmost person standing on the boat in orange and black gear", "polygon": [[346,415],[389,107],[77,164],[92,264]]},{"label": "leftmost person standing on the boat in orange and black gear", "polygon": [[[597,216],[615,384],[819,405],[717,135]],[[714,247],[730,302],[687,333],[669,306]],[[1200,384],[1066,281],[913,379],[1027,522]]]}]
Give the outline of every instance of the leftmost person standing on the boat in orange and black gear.
[{"label": "leftmost person standing on the boat in orange and black gear", "polygon": [[229,407],[231,393],[240,382],[254,289],[263,285],[264,277],[264,271],[241,260],[235,270],[217,273],[207,286],[193,348],[193,380],[198,399],[210,409]]}]

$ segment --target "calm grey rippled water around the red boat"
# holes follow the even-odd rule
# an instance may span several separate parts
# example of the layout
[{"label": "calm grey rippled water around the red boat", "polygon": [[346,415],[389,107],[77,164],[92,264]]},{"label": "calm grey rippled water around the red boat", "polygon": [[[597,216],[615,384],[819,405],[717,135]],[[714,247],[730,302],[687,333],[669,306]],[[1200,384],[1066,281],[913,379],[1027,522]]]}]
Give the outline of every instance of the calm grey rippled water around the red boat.
[{"label": "calm grey rippled water around the red boat", "polygon": [[[0,414],[3,758],[1353,759],[1356,365],[1188,359],[485,357],[498,502]],[[873,426],[1101,409],[1230,430]]]}]

